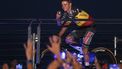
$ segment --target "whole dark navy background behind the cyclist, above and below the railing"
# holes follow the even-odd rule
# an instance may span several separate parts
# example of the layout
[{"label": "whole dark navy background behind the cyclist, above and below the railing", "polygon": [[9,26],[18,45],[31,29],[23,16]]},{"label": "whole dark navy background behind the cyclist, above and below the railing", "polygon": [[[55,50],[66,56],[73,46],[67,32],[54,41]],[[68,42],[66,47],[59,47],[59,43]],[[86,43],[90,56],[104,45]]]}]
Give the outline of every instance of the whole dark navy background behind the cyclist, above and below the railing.
[{"label": "whole dark navy background behind the cyclist, above and below the railing", "polygon": [[[113,52],[114,36],[122,39],[121,3],[121,0],[73,0],[73,5],[75,7],[84,9],[95,19],[110,19],[109,21],[103,20],[95,22],[97,33],[94,37],[91,49],[106,47]],[[59,9],[61,9],[60,0],[1,0],[0,67],[4,62],[8,63],[12,59],[17,59],[20,63],[26,62],[23,43],[26,42],[27,28],[30,22],[14,19],[54,19],[55,13]],[[46,48],[48,37],[57,31],[57,26],[54,21],[48,21],[47,24],[44,21],[42,22],[41,51]],[[37,25],[38,23],[39,22],[36,22]],[[118,42],[118,63],[120,59],[122,60],[121,46],[122,43]]]}]

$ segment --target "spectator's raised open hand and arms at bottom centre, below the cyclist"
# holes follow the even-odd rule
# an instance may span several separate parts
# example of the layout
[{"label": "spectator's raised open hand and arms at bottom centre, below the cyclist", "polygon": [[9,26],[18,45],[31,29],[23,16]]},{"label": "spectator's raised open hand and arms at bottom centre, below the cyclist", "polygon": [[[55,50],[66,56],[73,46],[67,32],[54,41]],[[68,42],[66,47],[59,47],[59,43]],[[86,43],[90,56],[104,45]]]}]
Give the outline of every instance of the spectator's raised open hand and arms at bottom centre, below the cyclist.
[{"label": "spectator's raised open hand and arms at bottom centre, below the cyclist", "polygon": [[56,55],[56,59],[48,66],[48,69],[57,69],[58,67],[63,67],[64,69],[70,69],[73,66],[74,69],[81,69],[81,65],[76,59],[70,54],[70,52],[66,52],[67,58],[66,60],[62,60],[60,56],[60,43],[61,39],[58,36],[49,37],[50,46],[48,45],[48,49]]}]

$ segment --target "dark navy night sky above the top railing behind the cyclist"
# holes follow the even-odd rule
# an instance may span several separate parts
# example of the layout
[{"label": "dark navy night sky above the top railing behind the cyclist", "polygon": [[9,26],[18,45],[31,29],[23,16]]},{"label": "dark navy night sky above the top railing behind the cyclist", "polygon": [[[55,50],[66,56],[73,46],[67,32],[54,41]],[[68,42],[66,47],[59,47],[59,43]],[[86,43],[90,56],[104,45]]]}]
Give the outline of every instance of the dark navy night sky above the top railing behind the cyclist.
[{"label": "dark navy night sky above the top railing behind the cyclist", "polygon": [[[121,0],[72,0],[94,18],[122,18]],[[1,0],[0,18],[55,18],[60,0]]]}]

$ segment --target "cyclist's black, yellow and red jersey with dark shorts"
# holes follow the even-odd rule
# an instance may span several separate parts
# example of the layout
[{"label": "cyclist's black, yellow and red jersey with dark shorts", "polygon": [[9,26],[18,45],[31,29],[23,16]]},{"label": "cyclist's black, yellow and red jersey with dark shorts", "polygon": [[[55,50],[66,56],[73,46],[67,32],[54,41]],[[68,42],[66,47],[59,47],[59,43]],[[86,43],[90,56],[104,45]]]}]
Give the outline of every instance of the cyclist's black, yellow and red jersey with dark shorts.
[{"label": "cyclist's black, yellow and red jersey with dark shorts", "polygon": [[[83,20],[77,21],[77,19]],[[89,45],[95,33],[93,22],[92,17],[84,10],[72,9],[69,13],[61,12],[61,18],[57,23],[61,28],[68,28],[65,36],[70,34],[76,40],[82,38],[83,44]]]}]

